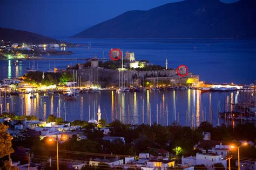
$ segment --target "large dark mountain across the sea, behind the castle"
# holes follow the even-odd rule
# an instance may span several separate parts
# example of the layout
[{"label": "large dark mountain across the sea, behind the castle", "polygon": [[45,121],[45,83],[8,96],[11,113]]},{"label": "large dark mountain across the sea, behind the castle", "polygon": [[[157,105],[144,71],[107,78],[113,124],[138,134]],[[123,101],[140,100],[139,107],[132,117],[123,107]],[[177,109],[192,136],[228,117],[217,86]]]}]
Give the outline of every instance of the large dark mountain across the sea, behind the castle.
[{"label": "large dark mountain across the sea, behind the castle", "polygon": [[186,0],[128,11],[73,38],[256,38],[256,1]]}]

